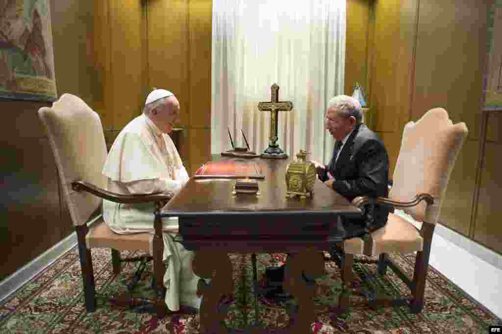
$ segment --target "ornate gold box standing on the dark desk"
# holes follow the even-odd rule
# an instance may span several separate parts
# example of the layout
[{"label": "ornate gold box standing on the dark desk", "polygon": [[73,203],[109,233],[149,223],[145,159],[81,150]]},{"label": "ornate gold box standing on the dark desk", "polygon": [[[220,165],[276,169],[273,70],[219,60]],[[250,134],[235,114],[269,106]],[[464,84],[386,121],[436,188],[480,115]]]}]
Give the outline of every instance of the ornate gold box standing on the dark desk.
[{"label": "ornate gold box standing on the dark desk", "polygon": [[300,150],[297,159],[286,167],[286,197],[300,196],[306,198],[313,194],[316,177],[315,166],[306,161],[307,151]]}]

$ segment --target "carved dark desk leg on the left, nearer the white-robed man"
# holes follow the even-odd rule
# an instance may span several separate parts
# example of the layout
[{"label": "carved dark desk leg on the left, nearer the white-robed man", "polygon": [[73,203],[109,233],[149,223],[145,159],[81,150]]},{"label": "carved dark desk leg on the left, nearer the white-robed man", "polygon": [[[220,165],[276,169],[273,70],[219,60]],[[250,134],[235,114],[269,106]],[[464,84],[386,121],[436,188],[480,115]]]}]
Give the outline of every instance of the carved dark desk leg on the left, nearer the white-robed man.
[{"label": "carved dark desk leg on the left, nearer the white-robed man", "polygon": [[[200,304],[200,332],[220,334],[225,332],[225,312],[219,312],[218,305],[223,296],[233,293],[232,263],[225,252],[195,252],[193,271],[202,278],[211,278],[209,285],[201,282],[197,294],[203,295]],[[213,275],[214,272],[214,275]]]}]

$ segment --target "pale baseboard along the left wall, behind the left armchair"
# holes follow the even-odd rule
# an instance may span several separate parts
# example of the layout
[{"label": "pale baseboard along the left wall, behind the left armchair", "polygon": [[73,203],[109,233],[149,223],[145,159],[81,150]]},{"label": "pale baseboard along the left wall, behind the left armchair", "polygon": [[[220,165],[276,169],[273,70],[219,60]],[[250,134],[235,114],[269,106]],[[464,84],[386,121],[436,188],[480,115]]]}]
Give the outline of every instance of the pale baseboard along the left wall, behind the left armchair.
[{"label": "pale baseboard along the left wall, behind the left armchair", "polygon": [[0,282],[0,304],[23,284],[32,279],[36,274],[51,265],[61,255],[73,248],[77,244],[77,234],[75,232],[43,252],[40,256],[21,267],[12,275]]}]

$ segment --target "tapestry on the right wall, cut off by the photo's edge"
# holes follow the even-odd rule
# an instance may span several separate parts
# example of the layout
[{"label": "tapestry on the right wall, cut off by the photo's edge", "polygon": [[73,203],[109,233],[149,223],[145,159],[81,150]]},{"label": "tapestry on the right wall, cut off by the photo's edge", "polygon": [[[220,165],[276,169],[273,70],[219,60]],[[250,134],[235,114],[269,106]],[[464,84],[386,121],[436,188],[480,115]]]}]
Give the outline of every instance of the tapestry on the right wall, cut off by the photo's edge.
[{"label": "tapestry on the right wall, cut off by the photo's edge", "polygon": [[488,109],[502,107],[502,0],[495,0],[488,13],[488,63],[484,77]]}]

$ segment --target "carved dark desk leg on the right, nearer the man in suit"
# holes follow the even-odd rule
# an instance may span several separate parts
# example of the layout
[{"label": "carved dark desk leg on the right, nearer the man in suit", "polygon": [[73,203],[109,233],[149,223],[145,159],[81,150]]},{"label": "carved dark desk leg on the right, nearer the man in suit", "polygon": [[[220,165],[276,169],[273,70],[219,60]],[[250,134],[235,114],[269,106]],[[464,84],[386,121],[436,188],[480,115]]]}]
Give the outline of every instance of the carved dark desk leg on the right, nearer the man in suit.
[{"label": "carved dark desk leg on the right, nearer the man in suit", "polygon": [[285,272],[284,288],[298,298],[298,313],[292,314],[291,332],[309,333],[312,322],[315,321],[315,305],[313,297],[317,283],[307,285],[302,272],[309,279],[315,279],[324,274],[324,255],[322,252],[306,250],[288,256],[288,269]]}]

